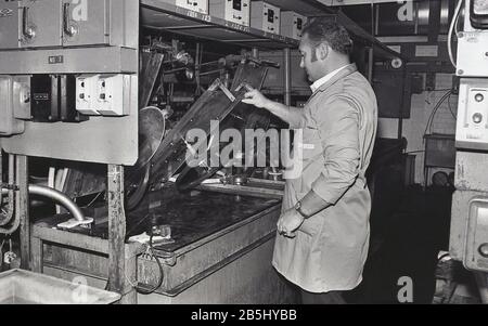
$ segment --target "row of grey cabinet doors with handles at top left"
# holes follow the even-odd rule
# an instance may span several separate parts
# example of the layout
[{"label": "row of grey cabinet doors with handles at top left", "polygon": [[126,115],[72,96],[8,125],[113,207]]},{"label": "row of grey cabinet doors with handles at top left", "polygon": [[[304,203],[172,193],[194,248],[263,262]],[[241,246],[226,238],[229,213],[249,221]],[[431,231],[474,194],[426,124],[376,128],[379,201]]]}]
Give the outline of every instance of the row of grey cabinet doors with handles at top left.
[{"label": "row of grey cabinet doors with handles at top left", "polygon": [[[137,44],[131,0],[0,2],[0,49]],[[132,16],[131,16],[132,15]],[[125,24],[124,22],[129,24]]]}]

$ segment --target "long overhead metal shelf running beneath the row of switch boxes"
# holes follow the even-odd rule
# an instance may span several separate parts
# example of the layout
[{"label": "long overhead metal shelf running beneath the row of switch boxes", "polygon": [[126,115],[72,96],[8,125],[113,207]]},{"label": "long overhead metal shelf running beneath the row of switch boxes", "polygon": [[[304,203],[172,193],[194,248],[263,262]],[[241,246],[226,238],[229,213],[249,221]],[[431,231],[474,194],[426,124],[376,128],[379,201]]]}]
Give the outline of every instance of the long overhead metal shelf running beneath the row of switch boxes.
[{"label": "long overhead metal shelf running beneath the row of switch boxes", "polygon": [[244,48],[297,48],[298,40],[231,23],[157,0],[141,0],[142,26]]}]

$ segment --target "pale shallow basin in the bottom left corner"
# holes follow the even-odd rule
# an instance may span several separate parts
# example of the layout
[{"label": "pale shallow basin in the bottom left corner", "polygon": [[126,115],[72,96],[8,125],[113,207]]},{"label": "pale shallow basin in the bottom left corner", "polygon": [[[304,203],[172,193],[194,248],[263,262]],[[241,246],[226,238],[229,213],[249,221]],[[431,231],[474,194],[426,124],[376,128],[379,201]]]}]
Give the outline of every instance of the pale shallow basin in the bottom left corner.
[{"label": "pale shallow basin in the bottom left corner", "polygon": [[0,304],[110,304],[120,295],[64,279],[11,270],[0,274]]}]

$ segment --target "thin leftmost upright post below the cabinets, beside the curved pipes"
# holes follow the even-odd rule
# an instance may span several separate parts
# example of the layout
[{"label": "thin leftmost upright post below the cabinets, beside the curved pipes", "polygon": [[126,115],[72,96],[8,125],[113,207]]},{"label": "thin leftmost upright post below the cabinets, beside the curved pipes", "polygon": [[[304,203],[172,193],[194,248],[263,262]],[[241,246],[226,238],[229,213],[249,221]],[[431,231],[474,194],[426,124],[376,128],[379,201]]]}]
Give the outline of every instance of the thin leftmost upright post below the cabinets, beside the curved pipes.
[{"label": "thin leftmost upright post below the cabinets, beside the curved pipes", "polygon": [[29,219],[29,194],[28,194],[28,168],[27,156],[16,156],[16,191],[15,214],[21,221],[21,269],[30,269],[30,219]]}]

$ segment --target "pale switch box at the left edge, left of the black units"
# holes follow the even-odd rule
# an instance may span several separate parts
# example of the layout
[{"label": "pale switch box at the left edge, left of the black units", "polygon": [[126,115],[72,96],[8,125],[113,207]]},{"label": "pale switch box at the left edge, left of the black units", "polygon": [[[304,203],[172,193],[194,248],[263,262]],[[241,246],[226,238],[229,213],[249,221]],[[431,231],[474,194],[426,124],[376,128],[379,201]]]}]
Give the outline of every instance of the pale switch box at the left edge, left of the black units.
[{"label": "pale switch box at the left edge, left of the black units", "polygon": [[14,94],[15,82],[11,76],[0,76],[0,136],[20,134],[25,130],[25,122],[14,117],[15,106],[22,105]]}]

